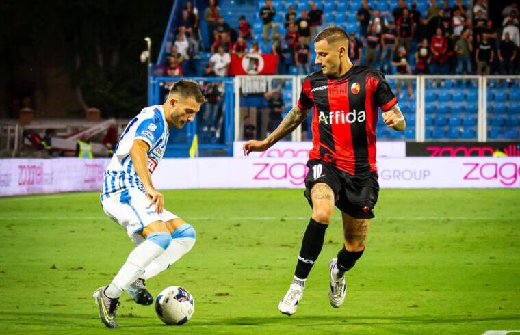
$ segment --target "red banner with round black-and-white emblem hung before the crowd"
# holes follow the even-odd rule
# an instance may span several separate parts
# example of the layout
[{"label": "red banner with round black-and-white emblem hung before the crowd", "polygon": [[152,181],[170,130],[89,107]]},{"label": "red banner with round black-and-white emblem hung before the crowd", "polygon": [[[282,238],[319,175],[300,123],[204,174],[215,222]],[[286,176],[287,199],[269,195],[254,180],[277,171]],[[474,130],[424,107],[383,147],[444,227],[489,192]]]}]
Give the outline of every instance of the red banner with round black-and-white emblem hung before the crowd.
[{"label": "red banner with round black-and-white emblem hung before the crowd", "polygon": [[278,55],[274,53],[247,54],[240,58],[231,55],[229,75],[274,75],[278,66]]}]

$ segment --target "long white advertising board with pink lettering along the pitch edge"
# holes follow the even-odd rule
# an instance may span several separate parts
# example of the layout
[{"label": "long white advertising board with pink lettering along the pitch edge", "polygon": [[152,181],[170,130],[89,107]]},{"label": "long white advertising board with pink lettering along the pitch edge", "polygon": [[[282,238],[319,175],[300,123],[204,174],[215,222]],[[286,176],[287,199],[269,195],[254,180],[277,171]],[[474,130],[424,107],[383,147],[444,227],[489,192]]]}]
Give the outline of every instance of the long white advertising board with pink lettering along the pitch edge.
[{"label": "long white advertising board with pink lettering along the pitch edge", "polygon": [[[303,188],[307,157],[164,159],[158,189]],[[0,196],[98,191],[109,159],[0,159]],[[520,157],[378,159],[381,188],[520,188]]]}]

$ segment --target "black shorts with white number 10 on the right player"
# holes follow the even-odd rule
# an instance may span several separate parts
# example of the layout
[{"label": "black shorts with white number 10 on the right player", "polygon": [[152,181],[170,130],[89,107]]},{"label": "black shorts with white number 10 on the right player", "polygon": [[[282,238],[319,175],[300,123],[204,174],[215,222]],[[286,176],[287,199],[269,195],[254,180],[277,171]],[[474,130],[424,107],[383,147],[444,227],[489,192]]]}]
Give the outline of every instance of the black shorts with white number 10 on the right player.
[{"label": "black shorts with white number 10 on the right player", "polygon": [[365,176],[352,176],[331,163],[320,159],[307,162],[309,173],[305,177],[304,195],[311,207],[311,189],[316,183],[326,183],[334,191],[335,205],[356,219],[372,219],[378,201],[378,175],[374,172]]}]

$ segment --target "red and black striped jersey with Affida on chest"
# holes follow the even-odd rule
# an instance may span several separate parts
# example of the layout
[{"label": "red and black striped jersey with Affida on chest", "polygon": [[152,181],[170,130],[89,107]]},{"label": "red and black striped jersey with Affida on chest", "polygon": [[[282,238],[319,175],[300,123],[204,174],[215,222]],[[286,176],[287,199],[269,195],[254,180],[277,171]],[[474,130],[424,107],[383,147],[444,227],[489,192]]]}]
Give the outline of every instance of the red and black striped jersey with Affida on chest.
[{"label": "red and black striped jersey with Affida on chest", "polygon": [[385,76],[374,68],[352,66],[345,75],[327,77],[317,71],[305,77],[298,100],[313,108],[313,148],[309,159],[333,163],[352,175],[377,172],[378,107],[397,103]]}]

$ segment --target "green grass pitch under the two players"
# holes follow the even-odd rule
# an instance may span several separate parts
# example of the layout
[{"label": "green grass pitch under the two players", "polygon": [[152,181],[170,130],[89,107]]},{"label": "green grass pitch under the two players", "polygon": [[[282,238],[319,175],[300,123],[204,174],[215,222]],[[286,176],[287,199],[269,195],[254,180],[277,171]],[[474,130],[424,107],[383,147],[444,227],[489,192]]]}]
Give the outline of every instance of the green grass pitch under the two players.
[{"label": "green grass pitch under the two players", "polygon": [[278,312],[311,213],[301,190],[165,191],[193,250],[147,282],[184,286],[193,319],[162,325],[125,293],[119,330],[91,298],[133,244],[98,193],[0,198],[1,334],[482,334],[520,329],[520,190],[383,189],[341,308],[328,304],[339,213],[298,312]]}]

